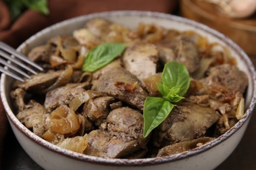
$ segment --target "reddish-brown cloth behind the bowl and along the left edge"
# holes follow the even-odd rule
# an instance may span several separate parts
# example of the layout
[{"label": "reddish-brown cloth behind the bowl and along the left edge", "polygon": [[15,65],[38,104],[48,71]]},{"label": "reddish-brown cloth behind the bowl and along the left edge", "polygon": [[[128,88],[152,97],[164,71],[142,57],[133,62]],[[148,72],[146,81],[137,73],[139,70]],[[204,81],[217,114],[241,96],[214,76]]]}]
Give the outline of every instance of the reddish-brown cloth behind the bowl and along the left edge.
[{"label": "reddish-brown cloth behind the bowl and along the left edge", "polygon": [[[12,24],[9,10],[0,0],[0,41],[16,48],[37,31],[75,16],[110,10],[150,10],[171,13],[177,7],[177,3],[177,0],[49,0],[48,16],[26,10]],[[6,131],[7,118],[0,101],[0,155]]]}]

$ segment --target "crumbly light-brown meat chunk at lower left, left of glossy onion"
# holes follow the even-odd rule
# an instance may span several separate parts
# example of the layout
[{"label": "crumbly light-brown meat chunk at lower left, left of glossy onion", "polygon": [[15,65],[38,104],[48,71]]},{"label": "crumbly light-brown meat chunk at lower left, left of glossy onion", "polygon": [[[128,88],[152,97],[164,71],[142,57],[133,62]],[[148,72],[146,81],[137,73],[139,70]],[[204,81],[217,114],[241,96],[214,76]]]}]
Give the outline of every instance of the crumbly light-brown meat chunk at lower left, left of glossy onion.
[{"label": "crumbly light-brown meat chunk at lower left, left of glossy onion", "polygon": [[35,135],[41,137],[45,132],[45,112],[45,108],[42,105],[32,100],[16,116],[26,127],[32,128]]}]

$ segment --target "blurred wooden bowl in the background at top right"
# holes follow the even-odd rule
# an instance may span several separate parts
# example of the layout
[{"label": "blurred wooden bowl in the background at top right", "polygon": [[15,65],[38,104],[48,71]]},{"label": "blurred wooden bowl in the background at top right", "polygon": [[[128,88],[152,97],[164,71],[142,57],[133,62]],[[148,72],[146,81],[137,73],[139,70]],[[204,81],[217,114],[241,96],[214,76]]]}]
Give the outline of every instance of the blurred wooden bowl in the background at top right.
[{"label": "blurred wooden bowl in the background at top right", "polygon": [[249,18],[232,19],[223,16],[215,5],[202,0],[182,0],[181,15],[220,31],[250,56],[256,56],[256,14]]}]

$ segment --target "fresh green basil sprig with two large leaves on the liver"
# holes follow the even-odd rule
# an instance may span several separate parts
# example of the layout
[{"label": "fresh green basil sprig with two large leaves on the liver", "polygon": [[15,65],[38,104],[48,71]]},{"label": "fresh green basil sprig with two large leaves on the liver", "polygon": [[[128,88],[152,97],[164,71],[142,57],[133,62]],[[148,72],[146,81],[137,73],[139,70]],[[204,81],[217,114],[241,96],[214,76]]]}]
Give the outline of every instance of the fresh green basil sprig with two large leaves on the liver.
[{"label": "fresh green basil sprig with two large leaves on the liver", "polygon": [[190,76],[186,67],[177,61],[169,61],[165,64],[161,75],[161,84],[158,90],[163,97],[146,97],[144,101],[144,131],[143,137],[158,127],[177,103],[184,99],[190,85]]}]

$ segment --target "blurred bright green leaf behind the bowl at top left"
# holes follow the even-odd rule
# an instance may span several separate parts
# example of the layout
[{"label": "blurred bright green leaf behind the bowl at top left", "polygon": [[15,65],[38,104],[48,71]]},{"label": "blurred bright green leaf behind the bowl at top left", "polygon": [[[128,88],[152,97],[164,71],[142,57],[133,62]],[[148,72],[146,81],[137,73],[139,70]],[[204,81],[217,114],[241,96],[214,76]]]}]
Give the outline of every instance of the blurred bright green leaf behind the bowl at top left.
[{"label": "blurred bright green leaf behind the bowl at top left", "polygon": [[41,12],[42,14],[49,14],[49,9],[47,7],[47,0],[22,0],[22,3],[32,10]]}]

